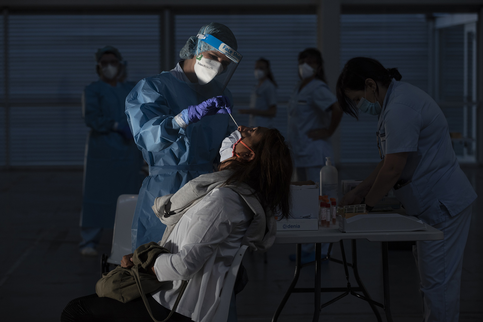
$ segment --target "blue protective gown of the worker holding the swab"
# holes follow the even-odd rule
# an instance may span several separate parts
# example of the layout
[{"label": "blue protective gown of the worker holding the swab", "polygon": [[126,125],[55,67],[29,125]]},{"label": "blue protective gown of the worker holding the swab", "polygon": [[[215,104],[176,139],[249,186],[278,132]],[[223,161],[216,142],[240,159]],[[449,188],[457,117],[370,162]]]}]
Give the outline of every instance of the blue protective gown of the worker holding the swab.
[{"label": "blue protective gown of the worker holding the swab", "polygon": [[[126,114],[149,165],[132,221],[132,250],[160,241],[166,226],[151,208],[156,197],[175,193],[189,180],[213,171],[221,142],[229,134],[227,114],[202,118],[185,129],[174,117],[189,105],[219,95],[220,84],[188,84],[170,72],[141,80],[126,99]],[[203,93],[203,94],[200,94]],[[228,90],[223,95],[232,101]]]}]

